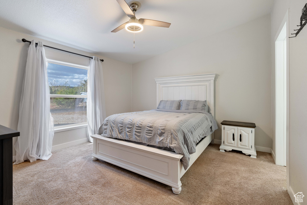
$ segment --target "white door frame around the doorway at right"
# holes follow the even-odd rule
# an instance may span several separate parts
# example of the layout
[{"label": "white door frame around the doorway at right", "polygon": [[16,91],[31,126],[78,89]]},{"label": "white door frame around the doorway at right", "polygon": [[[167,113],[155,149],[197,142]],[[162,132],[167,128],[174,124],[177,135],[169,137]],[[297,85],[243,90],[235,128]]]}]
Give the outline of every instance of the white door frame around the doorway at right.
[{"label": "white door frame around the doorway at right", "polygon": [[[286,26],[284,28],[284,26]],[[287,171],[287,189],[289,188],[290,184],[290,177],[289,177],[289,9],[286,12],[285,17],[282,20],[282,23],[278,29],[278,32],[275,36],[275,42],[278,40],[279,34],[282,32],[282,30],[286,29],[286,140],[280,140],[278,139],[277,132],[275,130],[275,163],[277,165],[284,166],[286,165],[286,171]],[[276,63],[276,43],[275,43],[275,109],[277,109],[276,106],[276,78],[277,78],[277,63]],[[275,129],[277,129],[277,112],[275,110]],[[284,146],[286,145],[286,153],[284,153]],[[286,163],[285,163],[285,157],[286,157]],[[289,189],[288,189],[289,190]]]}]

